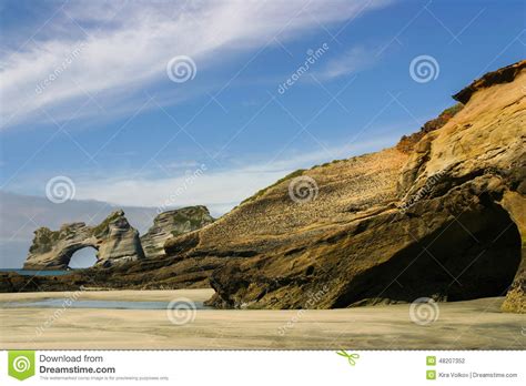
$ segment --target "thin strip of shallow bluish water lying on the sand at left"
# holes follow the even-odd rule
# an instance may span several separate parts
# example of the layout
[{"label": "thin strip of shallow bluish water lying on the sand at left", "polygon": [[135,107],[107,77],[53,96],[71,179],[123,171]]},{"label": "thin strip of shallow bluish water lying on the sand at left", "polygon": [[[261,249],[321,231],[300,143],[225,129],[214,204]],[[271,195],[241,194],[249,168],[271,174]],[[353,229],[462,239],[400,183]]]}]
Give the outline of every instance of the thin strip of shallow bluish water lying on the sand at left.
[{"label": "thin strip of shallow bluish water lying on the sand at left", "polygon": [[[194,302],[195,309],[212,309],[203,302]],[[121,302],[121,301],[74,301],[72,298],[43,298],[33,302],[0,302],[0,308],[107,308],[107,309],[181,309],[188,311],[188,303],[180,304],[170,302]]]}]

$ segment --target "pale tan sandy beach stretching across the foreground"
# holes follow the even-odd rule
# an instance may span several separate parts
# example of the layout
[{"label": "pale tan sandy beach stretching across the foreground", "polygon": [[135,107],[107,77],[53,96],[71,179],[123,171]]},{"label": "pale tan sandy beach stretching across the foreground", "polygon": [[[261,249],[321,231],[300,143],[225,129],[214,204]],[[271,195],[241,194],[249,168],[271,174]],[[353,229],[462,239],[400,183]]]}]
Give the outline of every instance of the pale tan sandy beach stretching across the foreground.
[{"label": "pale tan sandy beach stretching across the foreground", "polygon": [[[212,290],[85,291],[75,298],[203,302],[212,293]],[[71,293],[0,294],[0,303],[71,296]],[[173,324],[165,309],[65,307],[58,315],[58,308],[2,306],[0,348],[524,349],[526,317],[502,313],[503,299],[439,303],[438,317],[428,325],[411,321],[408,304],[324,311],[198,309],[193,321],[182,325]]]}]

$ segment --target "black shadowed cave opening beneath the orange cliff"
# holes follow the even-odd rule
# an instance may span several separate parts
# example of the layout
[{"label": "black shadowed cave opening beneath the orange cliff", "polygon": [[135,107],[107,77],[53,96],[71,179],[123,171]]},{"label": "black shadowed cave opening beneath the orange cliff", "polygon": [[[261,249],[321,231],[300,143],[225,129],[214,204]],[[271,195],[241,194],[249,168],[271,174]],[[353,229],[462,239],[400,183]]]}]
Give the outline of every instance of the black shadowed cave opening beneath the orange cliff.
[{"label": "black shadowed cave opening beneath the orange cliff", "polygon": [[468,301],[504,296],[518,270],[517,225],[495,203],[465,211],[387,262],[357,275],[333,307],[418,297]]}]

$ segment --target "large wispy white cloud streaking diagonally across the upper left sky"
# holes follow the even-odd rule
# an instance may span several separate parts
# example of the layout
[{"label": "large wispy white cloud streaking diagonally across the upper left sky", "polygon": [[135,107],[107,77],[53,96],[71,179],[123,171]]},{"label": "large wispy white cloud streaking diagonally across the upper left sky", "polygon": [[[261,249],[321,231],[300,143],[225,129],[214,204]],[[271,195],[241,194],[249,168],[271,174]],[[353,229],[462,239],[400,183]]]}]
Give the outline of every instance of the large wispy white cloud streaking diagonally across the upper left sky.
[{"label": "large wispy white cloud streaking diagonally across the upper left sky", "polygon": [[[130,111],[136,108],[130,95],[169,82],[165,65],[174,55],[190,55],[203,72],[227,62],[233,52],[273,44],[276,34],[284,41],[320,28],[305,14],[330,24],[387,2],[229,0],[179,9],[174,2],[69,4],[49,21],[41,40],[29,41],[21,51],[2,48],[2,115],[6,125],[34,119],[41,109],[53,109],[52,115],[60,118],[82,105],[87,94],[97,95],[109,110],[122,111],[125,102]],[[36,92],[39,85],[41,93]],[[174,88],[175,93],[182,90],[186,95],[186,89]]]}]

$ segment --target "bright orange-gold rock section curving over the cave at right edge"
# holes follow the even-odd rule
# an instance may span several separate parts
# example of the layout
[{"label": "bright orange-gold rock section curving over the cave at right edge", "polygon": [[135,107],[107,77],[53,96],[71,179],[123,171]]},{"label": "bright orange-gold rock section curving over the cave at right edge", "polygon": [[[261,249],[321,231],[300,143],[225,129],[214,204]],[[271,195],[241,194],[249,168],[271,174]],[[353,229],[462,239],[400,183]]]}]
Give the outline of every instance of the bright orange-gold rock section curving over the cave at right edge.
[{"label": "bright orange-gold rock section curving over the cave at right edge", "polygon": [[[429,133],[407,162],[398,185],[403,200],[416,194],[429,176],[446,177],[429,196],[477,182],[509,216],[502,232],[514,228],[522,260],[503,309],[526,312],[526,61],[490,72],[454,95],[468,103],[453,124]],[[505,263],[499,258],[498,263]]]}]

